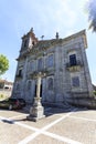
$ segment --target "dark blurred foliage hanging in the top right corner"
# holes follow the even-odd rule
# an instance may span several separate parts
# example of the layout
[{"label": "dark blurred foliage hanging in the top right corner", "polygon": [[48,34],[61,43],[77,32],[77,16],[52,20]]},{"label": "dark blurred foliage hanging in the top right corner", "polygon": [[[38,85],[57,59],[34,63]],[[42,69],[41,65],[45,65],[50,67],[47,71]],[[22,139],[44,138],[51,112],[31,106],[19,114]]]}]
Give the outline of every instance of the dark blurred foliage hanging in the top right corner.
[{"label": "dark blurred foliage hanging in the top right corner", "polygon": [[89,29],[96,32],[96,0],[89,0],[87,3]]}]

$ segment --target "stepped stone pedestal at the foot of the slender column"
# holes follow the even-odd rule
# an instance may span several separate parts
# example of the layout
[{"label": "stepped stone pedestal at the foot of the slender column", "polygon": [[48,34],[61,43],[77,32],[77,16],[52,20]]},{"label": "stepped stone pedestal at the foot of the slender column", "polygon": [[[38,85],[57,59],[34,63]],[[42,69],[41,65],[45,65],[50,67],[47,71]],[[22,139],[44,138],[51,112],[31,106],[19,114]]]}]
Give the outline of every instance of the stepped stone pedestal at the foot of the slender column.
[{"label": "stepped stone pedestal at the foot of the slender column", "polygon": [[28,120],[36,122],[40,119],[45,117],[44,115],[44,109],[41,105],[41,99],[34,99],[34,104],[33,106],[30,109],[30,115],[26,116]]}]

